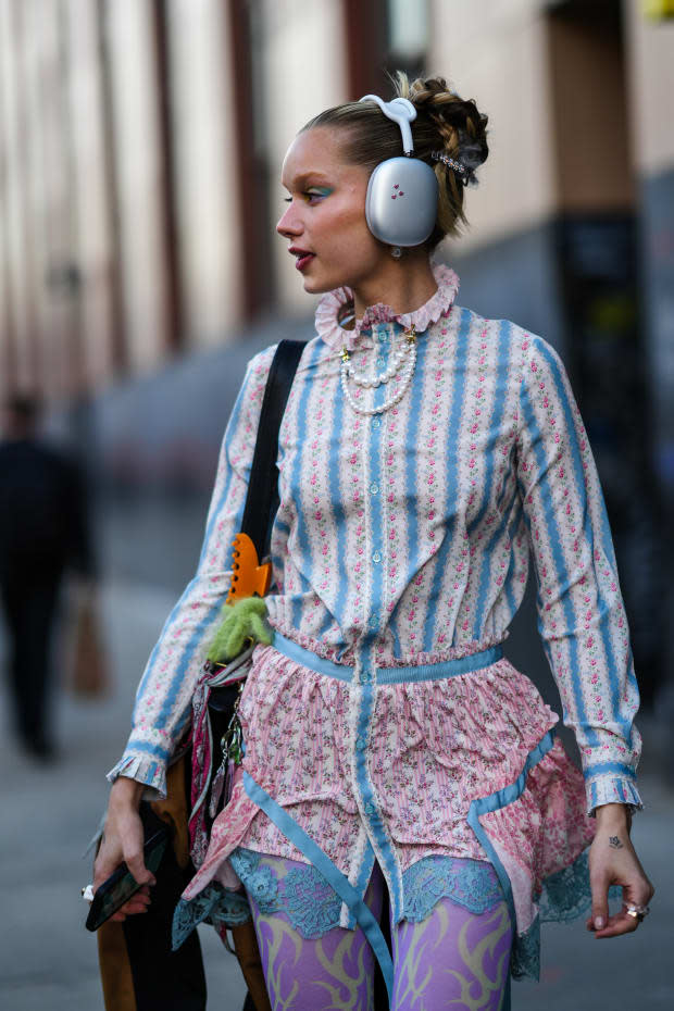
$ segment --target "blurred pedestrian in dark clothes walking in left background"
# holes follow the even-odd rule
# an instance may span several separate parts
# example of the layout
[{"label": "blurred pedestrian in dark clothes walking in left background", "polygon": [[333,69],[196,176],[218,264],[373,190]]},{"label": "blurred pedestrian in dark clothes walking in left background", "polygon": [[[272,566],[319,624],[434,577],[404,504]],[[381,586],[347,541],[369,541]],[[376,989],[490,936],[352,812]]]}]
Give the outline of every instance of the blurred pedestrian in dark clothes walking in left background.
[{"label": "blurred pedestrian in dark clothes walking in left background", "polygon": [[0,442],[0,597],[14,726],[30,756],[54,757],[53,632],[67,567],[92,575],[83,472],[39,436],[39,400],[11,396]]}]

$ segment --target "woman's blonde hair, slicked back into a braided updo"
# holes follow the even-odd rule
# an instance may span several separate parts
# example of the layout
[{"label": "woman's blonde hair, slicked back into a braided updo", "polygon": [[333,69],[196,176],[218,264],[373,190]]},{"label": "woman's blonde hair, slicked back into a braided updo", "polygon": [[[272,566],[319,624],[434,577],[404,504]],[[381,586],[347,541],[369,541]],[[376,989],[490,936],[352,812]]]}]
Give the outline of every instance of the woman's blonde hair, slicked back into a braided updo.
[{"label": "woman's blonde hair, slicked back into a braided updo", "polygon": [[[416,108],[412,123],[414,154],[427,162],[438,180],[436,224],[427,240],[430,248],[447,235],[458,235],[467,224],[463,210],[466,183],[476,183],[475,170],[489,153],[487,116],[479,112],[474,99],[460,98],[444,77],[417,77],[411,84],[401,71],[391,78],[395,97],[409,99]],[[326,109],[310,120],[301,133],[315,127],[344,130],[344,154],[348,162],[363,165],[372,172],[379,162],[401,154],[400,129],[383,115],[374,102],[345,102]],[[432,152],[440,152],[464,166],[465,173],[436,161]]]}]

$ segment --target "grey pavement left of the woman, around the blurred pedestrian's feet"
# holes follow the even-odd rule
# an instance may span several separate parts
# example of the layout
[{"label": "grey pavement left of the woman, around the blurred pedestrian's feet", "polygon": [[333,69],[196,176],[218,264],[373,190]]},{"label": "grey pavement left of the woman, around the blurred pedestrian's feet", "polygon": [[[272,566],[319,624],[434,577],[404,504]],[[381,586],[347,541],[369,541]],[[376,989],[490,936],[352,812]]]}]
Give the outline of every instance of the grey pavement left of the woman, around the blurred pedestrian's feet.
[{"label": "grey pavement left of the woman, around the blurred pedestrian's feet", "polygon": [[[58,700],[62,757],[41,767],[0,741],[0,1006],[7,1011],[103,1011],[96,937],[85,931],[79,890],[91,881],[82,853],[108,795],[105,772],[128,735],[142,665],[175,601],[162,590],[109,586],[103,594],[114,691],[104,702]],[[7,695],[0,697],[7,726]],[[238,963],[200,927],[209,1011],[240,1011]]]}]

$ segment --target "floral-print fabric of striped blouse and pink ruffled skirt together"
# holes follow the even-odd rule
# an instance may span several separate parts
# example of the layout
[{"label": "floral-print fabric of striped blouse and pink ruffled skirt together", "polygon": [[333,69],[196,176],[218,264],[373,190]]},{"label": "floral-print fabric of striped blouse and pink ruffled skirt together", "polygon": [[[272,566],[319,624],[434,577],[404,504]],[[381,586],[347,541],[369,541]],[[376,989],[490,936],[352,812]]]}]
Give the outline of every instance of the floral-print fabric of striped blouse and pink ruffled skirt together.
[{"label": "floral-print fabric of striped blouse and pink ruffled skirt together", "polygon": [[[355,678],[347,685],[259,648],[241,706],[245,767],[361,890],[375,854],[386,856],[398,908],[416,861],[484,860],[470,800],[512,784],[557,717],[507,661],[416,684],[377,684],[377,671],[502,641],[533,560],[544,646],[584,769],[556,745],[515,802],[480,817],[526,931],[540,882],[591,838],[586,811],[640,804],[638,694],[601,489],[564,367],[541,338],[455,305],[454,275],[436,267],[436,277],[426,307],[404,320],[377,307],[352,338],[355,369],[379,372],[403,328],[419,324],[410,388],[382,414],[346,401],[339,299],[322,302],[279,433],[269,617],[305,649],[353,665]],[[229,584],[272,357],[248,367],[197,575],[150,658],[111,778],[165,789]],[[386,396],[354,391],[362,408]],[[239,845],[301,859],[239,782],[188,898],[213,879],[230,886],[226,858]]]}]

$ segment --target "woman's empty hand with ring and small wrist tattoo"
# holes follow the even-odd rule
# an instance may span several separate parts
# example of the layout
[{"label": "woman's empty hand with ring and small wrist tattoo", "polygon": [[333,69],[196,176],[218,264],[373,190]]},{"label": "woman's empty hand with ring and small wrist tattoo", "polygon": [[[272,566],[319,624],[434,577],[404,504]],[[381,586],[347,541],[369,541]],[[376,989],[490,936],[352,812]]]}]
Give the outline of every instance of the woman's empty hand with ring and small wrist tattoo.
[{"label": "woman's empty hand with ring and small wrist tattoo", "polygon": [[592,913],[587,920],[587,928],[595,932],[595,937],[631,934],[639,925],[636,916],[627,915],[625,904],[619,913],[609,916],[611,885],[621,885],[623,902],[633,906],[648,906],[654,893],[632,845],[629,822],[625,804],[597,808],[597,834],[589,852]]}]

